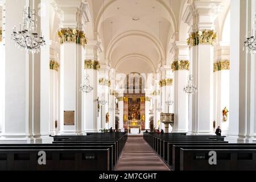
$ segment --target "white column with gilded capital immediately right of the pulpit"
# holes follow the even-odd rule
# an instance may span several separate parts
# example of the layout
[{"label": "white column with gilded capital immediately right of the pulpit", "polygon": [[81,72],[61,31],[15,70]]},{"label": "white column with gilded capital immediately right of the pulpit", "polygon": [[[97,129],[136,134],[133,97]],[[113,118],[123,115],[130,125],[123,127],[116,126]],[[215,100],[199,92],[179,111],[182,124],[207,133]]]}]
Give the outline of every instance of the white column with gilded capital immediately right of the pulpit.
[{"label": "white column with gilded capital immediately right of the pulpit", "polygon": [[188,131],[188,94],[184,92],[187,85],[189,61],[188,46],[185,42],[176,41],[172,48],[174,61],[174,130],[175,133]]}]

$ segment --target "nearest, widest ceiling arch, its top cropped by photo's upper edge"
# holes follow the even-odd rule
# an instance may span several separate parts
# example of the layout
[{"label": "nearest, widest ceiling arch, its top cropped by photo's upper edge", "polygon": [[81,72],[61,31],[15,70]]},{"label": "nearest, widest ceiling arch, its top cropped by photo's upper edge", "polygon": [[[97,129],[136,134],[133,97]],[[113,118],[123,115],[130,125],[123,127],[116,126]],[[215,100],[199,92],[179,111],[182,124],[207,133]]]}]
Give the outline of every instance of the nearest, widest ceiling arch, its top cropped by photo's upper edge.
[{"label": "nearest, widest ceiling arch, its top cropped by photo's upper edge", "polygon": [[[116,1],[118,1],[118,0],[110,0],[110,2],[107,3],[105,6],[102,5],[100,13],[98,13],[97,18],[96,18],[96,23],[95,23],[94,30],[99,32],[98,28],[100,27],[100,20],[102,18],[102,15],[106,11],[106,9],[108,9],[108,7],[111,6]],[[162,0],[155,0],[155,1],[160,3],[160,5],[162,5],[164,7],[164,9],[166,9],[168,11],[169,15],[171,16],[171,22],[170,23],[171,23],[171,26],[172,26],[172,30],[177,31],[177,20],[175,18],[175,15],[174,15],[174,12],[172,11],[172,9],[169,9],[169,7],[166,5],[166,3],[164,3]]]}]

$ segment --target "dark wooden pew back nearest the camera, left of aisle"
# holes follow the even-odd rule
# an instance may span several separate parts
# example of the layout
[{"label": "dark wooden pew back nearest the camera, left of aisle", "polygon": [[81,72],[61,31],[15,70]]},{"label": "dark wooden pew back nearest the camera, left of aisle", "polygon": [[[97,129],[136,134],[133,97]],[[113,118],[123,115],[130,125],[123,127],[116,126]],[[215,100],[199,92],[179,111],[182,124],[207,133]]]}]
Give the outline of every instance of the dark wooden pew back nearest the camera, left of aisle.
[{"label": "dark wooden pew back nearest the camera, left of aisle", "polygon": [[0,150],[0,171],[109,171],[109,149],[44,150],[46,165],[38,164],[40,150]]}]

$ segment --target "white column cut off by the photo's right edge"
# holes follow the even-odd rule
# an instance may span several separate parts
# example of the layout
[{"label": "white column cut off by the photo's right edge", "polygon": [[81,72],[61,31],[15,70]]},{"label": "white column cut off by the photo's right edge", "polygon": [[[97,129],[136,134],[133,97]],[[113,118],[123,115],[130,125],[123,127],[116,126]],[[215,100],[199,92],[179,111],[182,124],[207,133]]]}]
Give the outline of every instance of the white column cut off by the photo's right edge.
[{"label": "white column cut off by the photo's right edge", "polygon": [[[251,142],[256,133],[255,55],[243,51],[243,40],[250,37],[255,1],[230,1],[230,120],[228,140]],[[255,31],[255,30],[254,30]],[[236,39],[233,39],[236,36]]]}]

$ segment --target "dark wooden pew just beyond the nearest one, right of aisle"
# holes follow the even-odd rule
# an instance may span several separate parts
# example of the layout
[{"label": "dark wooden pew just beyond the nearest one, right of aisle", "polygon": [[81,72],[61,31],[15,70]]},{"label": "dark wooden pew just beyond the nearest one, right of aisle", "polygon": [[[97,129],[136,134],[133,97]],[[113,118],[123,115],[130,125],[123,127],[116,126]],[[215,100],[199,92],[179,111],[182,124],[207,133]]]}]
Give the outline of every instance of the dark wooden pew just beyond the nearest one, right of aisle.
[{"label": "dark wooden pew just beyond the nearest one, right of aisle", "polygon": [[175,145],[173,146],[173,152],[172,152],[172,169],[175,171],[179,171],[180,169],[180,148],[183,149],[212,149],[213,151],[216,149],[255,149],[256,150],[256,144],[237,144],[237,143],[226,143],[226,144],[196,144],[196,145],[190,145],[187,146],[181,146],[181,145]]}]

